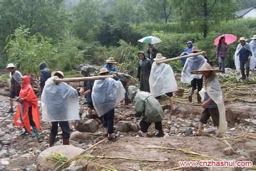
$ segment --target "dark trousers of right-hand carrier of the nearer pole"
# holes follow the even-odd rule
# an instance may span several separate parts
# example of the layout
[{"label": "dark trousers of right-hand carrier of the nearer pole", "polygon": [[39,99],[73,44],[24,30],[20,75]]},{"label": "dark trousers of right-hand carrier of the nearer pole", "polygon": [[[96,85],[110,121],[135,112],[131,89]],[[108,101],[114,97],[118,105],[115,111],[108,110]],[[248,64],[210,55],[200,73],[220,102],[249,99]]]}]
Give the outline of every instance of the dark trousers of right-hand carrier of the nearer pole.
[{"label": "dark trousers of right-hand carrier of the nearer pole", "polygon": [[114,132],[114,117],[115,117],[115,109],[105,113],[100,117],[103,127],[108,128],[108,133],[111,134]]}]

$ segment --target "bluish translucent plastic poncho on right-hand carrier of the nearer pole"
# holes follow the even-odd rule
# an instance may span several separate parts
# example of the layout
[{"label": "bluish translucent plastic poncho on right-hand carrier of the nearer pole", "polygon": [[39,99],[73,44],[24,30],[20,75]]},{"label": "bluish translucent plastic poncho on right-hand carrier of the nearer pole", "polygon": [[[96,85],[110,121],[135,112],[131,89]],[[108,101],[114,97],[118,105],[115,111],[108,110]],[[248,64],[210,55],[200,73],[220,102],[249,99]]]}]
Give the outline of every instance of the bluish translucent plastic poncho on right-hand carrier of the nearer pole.
[{"label": "bluish translucent plastic poncho on right-hand carrier of the nearer pole", "polygon": [[96,80],[92,88],[92,103],[99,117],[111,111],[124,99],[125,89],[120,81],[112,78]]}]

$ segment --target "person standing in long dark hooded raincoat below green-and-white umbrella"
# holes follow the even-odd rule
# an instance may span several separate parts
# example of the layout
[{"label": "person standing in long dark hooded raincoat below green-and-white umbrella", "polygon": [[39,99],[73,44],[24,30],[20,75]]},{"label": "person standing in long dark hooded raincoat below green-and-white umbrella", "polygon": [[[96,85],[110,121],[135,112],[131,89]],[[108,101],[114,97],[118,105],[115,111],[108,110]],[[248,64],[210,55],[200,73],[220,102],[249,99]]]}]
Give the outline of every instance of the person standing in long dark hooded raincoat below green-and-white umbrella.
[{"label": "person standing in long dark hooded raincoat below green-and-white umbrella", "polygon": [[149,75],[151,72],[152,62],[146,57],[143,51],[138,53],[140,59],[139,67],[137,71],[137,78],[140,82],[140,91],[150,92],[149,88]]}]

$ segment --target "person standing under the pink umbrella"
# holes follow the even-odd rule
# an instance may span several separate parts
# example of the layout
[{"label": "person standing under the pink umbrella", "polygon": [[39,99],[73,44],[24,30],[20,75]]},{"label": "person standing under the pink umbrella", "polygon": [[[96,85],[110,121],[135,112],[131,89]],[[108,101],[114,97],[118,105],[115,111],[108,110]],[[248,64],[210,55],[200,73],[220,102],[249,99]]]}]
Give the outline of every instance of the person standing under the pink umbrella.
[{"label": "person standing under the pink umbrella", "polygon": [[225,42],[225,36],[221,36],[219,43],[217,45],[216,57],[219,60],[219,70],[225,73],[225,58],[227,55],[227,43]]}]

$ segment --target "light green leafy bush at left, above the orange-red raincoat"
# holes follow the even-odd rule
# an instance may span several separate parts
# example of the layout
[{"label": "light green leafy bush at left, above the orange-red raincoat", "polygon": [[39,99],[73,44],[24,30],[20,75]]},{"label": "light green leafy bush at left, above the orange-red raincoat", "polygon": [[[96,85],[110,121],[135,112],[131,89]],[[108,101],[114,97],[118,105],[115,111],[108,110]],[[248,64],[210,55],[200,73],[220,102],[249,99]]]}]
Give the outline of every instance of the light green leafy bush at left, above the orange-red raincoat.
[{"label": "light green leafy bush at left, above the orange-red raincoat", "polygon": [[18,27],[14,34],[7,38],[5,47],[8,62],[15,63],[19,69],[27,73],[36,73],[39,63],[50,62],[55,54],[51,39],[39,33],[31,35],[29,28]]}]

